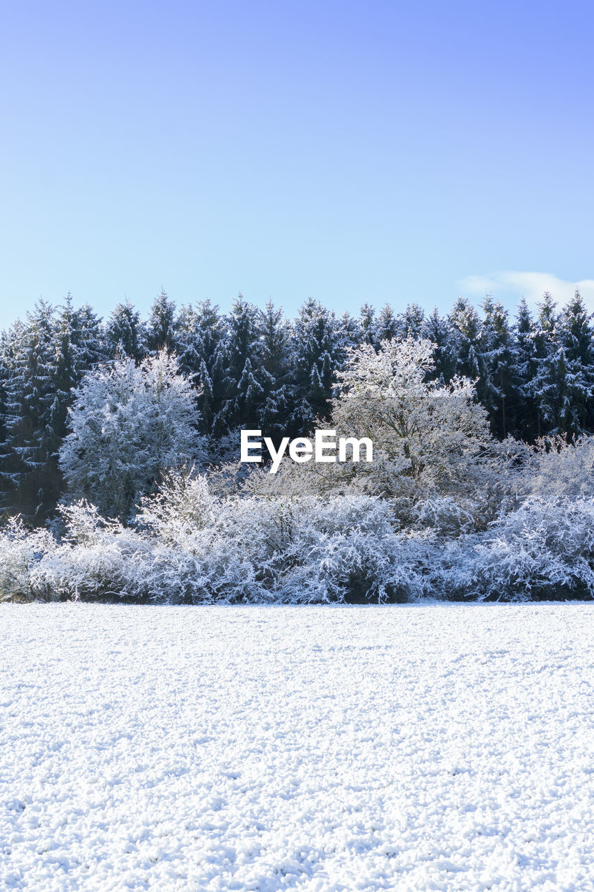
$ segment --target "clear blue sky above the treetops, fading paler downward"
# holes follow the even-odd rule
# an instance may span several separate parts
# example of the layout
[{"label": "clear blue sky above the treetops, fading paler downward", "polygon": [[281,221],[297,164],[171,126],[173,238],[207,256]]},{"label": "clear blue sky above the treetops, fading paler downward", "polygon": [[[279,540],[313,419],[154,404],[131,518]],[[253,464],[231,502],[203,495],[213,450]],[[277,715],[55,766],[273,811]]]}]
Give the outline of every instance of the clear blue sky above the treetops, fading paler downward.
[{"label": "clear blue sky above the treetops, fading paler downward", "polygon": [[0,326],[161,285],[293,315],[558,279],[594,309],[593,26],[584,0],[5,4]]}]

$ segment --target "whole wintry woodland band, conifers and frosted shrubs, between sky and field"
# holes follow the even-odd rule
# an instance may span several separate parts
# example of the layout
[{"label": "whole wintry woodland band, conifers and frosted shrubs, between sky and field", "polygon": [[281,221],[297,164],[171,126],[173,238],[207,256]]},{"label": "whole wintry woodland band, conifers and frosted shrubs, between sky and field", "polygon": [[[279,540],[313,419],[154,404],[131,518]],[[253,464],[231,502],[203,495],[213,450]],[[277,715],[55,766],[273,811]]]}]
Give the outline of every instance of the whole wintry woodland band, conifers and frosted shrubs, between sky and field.
[{"label": "whole wintry woodland band, conifers and frosted shrubs, between sky and field", "polygon": [[[0,598],[591,597],[593,389],[579,292],[514,319],[39,301],[0,339]],[[242,429],[316,427],[373,463],[238,461]]]}]

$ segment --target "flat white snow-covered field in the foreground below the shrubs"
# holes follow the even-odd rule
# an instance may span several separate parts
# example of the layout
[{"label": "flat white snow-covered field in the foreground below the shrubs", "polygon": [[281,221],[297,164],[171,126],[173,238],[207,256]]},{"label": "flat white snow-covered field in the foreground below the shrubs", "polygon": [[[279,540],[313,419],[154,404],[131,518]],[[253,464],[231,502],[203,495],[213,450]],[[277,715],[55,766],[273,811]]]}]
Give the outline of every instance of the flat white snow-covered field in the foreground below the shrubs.
[{"label": "flat white snow-covered field in the foreground below the shrubs", "polygon": [[594,605],[0,606],[0,888],[594,889]]}]

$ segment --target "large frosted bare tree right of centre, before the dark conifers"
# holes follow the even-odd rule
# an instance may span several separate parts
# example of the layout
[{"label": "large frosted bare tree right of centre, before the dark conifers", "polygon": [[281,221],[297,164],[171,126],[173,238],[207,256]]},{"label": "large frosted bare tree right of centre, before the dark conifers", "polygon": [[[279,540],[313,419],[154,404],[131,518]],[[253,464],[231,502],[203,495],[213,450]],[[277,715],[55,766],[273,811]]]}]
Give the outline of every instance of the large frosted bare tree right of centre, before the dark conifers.
[{"label": "large frosted bare tree right of centre, before the dark conifers", "polygon": [[432,370],[433,344],[408,338],[384,341],[378,352],[361,345],[338,375],[332,423],[343,434],[373,441],[373,464],[351,466],[368,476],[372,491],[456,494],[488,477],[493,443],[472,383],[427,381]]}]

